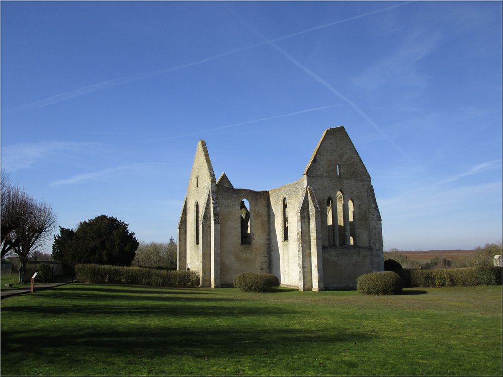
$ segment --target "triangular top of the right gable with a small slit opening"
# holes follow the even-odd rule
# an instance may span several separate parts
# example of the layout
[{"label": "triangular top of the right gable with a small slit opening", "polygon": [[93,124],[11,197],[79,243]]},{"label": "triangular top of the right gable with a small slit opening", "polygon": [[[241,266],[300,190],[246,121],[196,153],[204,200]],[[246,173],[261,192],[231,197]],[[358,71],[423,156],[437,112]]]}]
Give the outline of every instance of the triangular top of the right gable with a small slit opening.
[{"label": "triangular top of the right gable with a small slit opening", "polygon": [[360,155],[342,126],[329,128],[323,133],[304,174],[370,179]]}]

